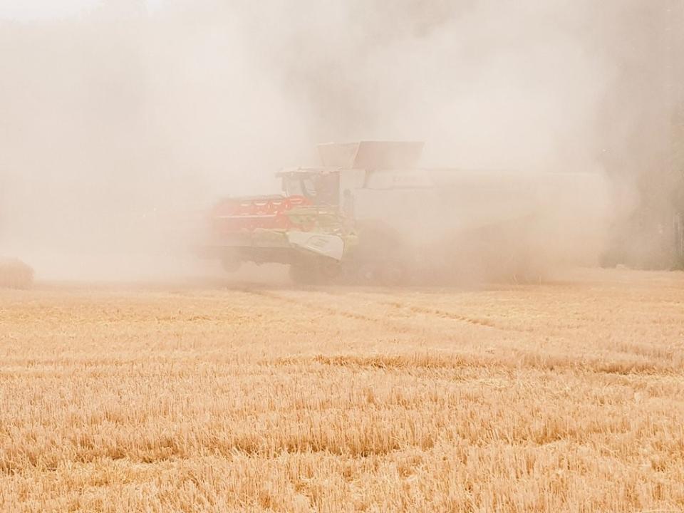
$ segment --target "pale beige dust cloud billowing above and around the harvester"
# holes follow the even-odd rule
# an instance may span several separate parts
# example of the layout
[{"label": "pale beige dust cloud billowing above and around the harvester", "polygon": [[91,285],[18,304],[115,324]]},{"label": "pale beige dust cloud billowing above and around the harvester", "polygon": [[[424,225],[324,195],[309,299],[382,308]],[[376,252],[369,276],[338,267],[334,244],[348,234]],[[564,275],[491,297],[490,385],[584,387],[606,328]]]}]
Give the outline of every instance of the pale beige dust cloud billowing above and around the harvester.
[{"label": "pale beige dust cloud billowing above and around the harvester", "polygon": [[110,0],[0,21],[0,253],[43,278],[187,274],[212,202],[276,192],[280,167],[348,140],[608,177],[608,244],[644,204],[669,208],[667,16],[643,0]]}]

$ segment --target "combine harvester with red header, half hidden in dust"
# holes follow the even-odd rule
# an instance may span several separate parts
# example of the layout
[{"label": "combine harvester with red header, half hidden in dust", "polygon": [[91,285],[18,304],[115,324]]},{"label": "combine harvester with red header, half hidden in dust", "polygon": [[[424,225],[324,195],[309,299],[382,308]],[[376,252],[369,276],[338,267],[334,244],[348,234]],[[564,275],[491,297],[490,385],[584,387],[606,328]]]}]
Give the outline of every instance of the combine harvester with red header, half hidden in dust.
[{"label": "combine harvester with red header, half hidden in dust", "polygon": [[282,195],[216,204],[204,256],[289,264],[302,284],[396,285],[538,279],[599,251],[598,175],[423,169],[422,142],[318,150],[321,167],[279,172]]}]

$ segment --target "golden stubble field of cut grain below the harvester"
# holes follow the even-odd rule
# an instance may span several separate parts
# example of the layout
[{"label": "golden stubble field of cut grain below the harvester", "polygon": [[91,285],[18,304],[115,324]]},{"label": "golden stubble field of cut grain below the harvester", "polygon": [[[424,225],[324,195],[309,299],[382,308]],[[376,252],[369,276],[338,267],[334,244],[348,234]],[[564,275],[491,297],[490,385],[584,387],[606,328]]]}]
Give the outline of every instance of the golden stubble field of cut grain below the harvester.
[{"label": "golden stubble field of cut grain below the harvester", "polygon": [[0,291],[4,512],[684,509],[684,275]]}]

